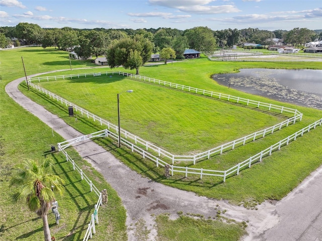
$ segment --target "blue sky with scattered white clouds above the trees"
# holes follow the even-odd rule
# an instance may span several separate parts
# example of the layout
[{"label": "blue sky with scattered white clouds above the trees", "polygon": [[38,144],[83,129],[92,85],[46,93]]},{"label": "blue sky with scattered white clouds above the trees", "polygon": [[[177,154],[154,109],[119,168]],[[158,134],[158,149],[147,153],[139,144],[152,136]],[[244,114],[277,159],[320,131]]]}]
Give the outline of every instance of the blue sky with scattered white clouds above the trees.
[{"label": "blue sky with scattered white clouds above the trees", "polygon": [[321,0],[0,0],[0,26],[322,29]]}]

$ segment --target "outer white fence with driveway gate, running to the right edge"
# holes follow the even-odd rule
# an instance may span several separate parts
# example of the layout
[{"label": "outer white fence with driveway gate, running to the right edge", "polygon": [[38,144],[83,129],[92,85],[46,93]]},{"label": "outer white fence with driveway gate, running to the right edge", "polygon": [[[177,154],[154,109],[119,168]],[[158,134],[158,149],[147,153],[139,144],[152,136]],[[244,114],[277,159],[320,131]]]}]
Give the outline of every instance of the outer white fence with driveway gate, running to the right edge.
[{"label": "outer white fence with driveway gate, running to the right edge", "polygon": [[[132,152],[139,153],[140,155],[142,155],[143,158],[153,161],[156,167],[159,167],[159,166],[165,167],[166,165],[169,165],[169,169],[171,171],[172,176],[174,175],[175,172],[184,173],[185,177],[187,177],[188,174],[199,175],[200,179],[202,179],[203,176],[217,176],[217,177],[222,177],[223,182],[225,182],[227,176],[230,176],[233,174],[238,175],[241,170],[245,168],[250,168],[251,165],[256,162],[261,162],[264,157],[271,156],[273,152],[280,150],[281,147],[288,145],[290,142],[295,141],[296,138],[303,136],[304,133],[308,133],[310,130],[315,129],[317,126],[321,126],[321,125],[322,125],[322,118],[225,171],[174,166],[160,159],[159,157],[156,157],[155,155],[148,153],[146,150],[136,146],[135,144],[129,142],[124,138],[121,138],[121,143],[124,146],[131,149]],[[58,147],[59,147],[58,150],[63,150],[77,142],[83,142],[85,140],[93,139],[96,137],[110,137],[112,139],[118,140],[117,134],[105,129],[99,132],[95,132],[92,134],[88,134],[85,136],[77,137],[68,141],[58,143]]]}]

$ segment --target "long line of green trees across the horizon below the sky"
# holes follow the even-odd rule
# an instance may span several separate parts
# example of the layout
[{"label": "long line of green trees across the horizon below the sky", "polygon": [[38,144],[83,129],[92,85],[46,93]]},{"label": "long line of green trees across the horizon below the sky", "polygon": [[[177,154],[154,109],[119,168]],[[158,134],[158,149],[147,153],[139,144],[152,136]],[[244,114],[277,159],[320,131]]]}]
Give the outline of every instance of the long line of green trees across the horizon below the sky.
[{"label": "long line of green trees across the horizon below the sky", "polygon": [[[43,48],[73,49],[79,57],[104,56],[110,66],[123,65],[136,69],[144,64],[151,53],[160,53],[165,59],[183,59],[187,48],[200,52],[211,52],[217,48],[233,47],[249,42],[261,45],[273,44],[273,38],[283,43],[301,46],[304,43],[322,40],[322,31],[306,28],[286,30],[225,29],[213,31],[208,27],[187,30],[172,28],[158,29],[72,29],[70,27],[43,29],[37,24],[19,23],[16,27],[0,28],[0,47],[8,44],[19,46],[42,44]],[[76,46],[76,47],[74,47]]]}]

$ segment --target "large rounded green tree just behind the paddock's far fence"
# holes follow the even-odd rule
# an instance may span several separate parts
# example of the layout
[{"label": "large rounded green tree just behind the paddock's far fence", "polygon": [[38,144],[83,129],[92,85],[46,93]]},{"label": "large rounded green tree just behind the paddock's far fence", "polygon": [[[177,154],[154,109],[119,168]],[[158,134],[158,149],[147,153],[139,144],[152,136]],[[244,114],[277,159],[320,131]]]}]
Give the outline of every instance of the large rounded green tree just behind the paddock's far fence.
[{"label": "large rounded green tree just behind the paddock's far fence", "polygon": [[135,69],[139,74],[142,66],[152,53],[152,43],[142,35],[114,41],[107,50],[106,58],[111,68],[123,66],[125,69]]}]

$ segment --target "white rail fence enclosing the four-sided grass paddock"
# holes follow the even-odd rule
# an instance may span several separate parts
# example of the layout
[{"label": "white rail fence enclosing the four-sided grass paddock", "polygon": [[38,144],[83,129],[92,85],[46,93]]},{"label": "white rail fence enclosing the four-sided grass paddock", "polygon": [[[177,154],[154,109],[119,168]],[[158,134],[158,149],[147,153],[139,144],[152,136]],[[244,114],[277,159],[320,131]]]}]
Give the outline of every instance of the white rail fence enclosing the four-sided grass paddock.
[{"label": "white rail fence enclosing the four-sided grass paddock", "polygon": [[[163,81],[163,80],[157,80],[157,79],[153,79],[153,78],[149,78],[149,77],[145,77],[145,76],[140,76],[140,75],[134,75],[134,74],[129,74],[129,73],[124,73],[124,72],[106,72],[106,75],[110,75],[110,74],[121,74],[121,75],[126,75],[128,77],[131,78],[135,78],[135,79],[139,79],[139,80],[143,80],[143,81],[147,81],[150,83],[156,83],[156,84],[160,84],[160,85],[165,85],[165,86],[169,86],[169,87],[173,87],[173,88],[179,88],[182,90],[188,90],[188,91],[193,91],[195,93],[201,93],[203,95],[209,95],[211,97],[218,97],[219,99],[225,99],[227,101],[232,101],[235,100],[237,103],[246,103],[246,105],[250,105],[250,104],[254,104],[256,107],[264,107],[264,108],[268,108],[268,110],[279,110],[280,113],[283,112],[288,112],[288,113],[293,113],[294,116],[291,118],[286,119],[285,121],[276,124],[272,127],[269,127],[267,129],[255,132],[253,134],[250,134],[248,136],[239,138],[237,140],[231,141],[229,143],[223,144],[219,147],[215,147],[212,148],[210,150],[207,150],[205,152],[201,152],[198,153],[196,155],[174,155],[150,142],[147,142],[145,140],[143,140],[140,137],[137,137],[123,129],[120,130],[121,135],[123,135],[126,139],[130,139],[134,142],[134,144],[140,144],[142,145],[146,151],[151,150],[153,152],[156,152],[158,157],[160,157],[161,155],[163,155],[166,158],[169,158],[172,161],[172,164],[174,165],[175,161],[193,161],[193,163],[195,164],[197,160],[200,160],[202,158],[210,158],[213,155],[220,155],[222,154],[224,151],[228,151],[228,150],[232,150],[236,147],[238,147],[238,145],[245,145],[248,142],[252,142],[255,141],[259,138],[263,138],[266,135],[272,134],[275,131],[281,130],[281,128],[283,127],[287,127],[290,124],[294,124],[297,120],[301,121],[302,119],[302,113],[299,112],[296,109],[292,109],[292,108],[288,108],[288,107],[284,107],[284,106],[279,106],[279,105],[275,105],[275,104],[271,104],[271,103],[265,103],[265,102],[260,102],[260,101],[255,101],[255,100],[250,100],[250,99],[245,99],[245,98],[241,98],[241,97],[236,97],[236,96],[232,96],[232,95],[226,95],[226,94],[222,94],[222,93],[217,93],[217,92],[213,92],[213,91],[207,91],[207,90],[203,90],[203,89],[198,89],[198,88],[194,88],[194,87],[190,87],[190,86],[185,86],[185,85],[181,85],[181,84],[176,84],[176,83],[171,83],[171,82],[167,82],[167,81]],[[74,74],[74,75],[59,75],[59,76],[48,76],[48,77],[35,77],[35,78],[30,78],[28,79],[28,83],[35,89],[39,90],[40,92],[46,93],[46,95],[49,95],[49,97],[52,97],[53,99],[56,99],[57,101],[61,102],[61,104],[65,104],[66,106],[73,106],[75,108],[76,111],[80,111],[81,114],[85,114],[87,115],[87,117],[91,117],[93,118],[94,122],[98,121],[100,122],[101,126],[104,124],[108,127],[108,130],[115,130],[115,132],[118,134],[119,130],[118,127],[108,121],[106,121],[105,119],[101,118],[100,116],[97,116],[91,112],[89,112],[88,110],[77,106],[74,103],[69,102],[68,100],[32,83],[32,81],[41,81],[41,80],[57,80],[57,79],[65,79],[65,78],[73,78],[73,77],[81,77],[81,76],[95,76],[95,74],[97,73],[87,73],[87,74]]]}]

